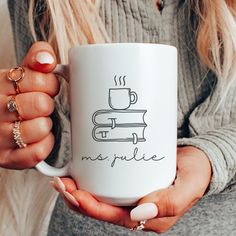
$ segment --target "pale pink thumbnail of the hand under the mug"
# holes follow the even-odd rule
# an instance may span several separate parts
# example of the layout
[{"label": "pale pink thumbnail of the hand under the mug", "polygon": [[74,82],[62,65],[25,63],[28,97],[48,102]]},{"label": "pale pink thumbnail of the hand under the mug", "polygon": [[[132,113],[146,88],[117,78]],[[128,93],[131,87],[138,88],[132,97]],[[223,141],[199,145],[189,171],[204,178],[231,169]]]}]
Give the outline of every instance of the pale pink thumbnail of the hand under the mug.
[{"label": "pale pink thumbnail of the hand under the mug", "polygon": [[149,220],[157,216],[158,208],[154,203],[143,203],[130,212],[132,221]]}]

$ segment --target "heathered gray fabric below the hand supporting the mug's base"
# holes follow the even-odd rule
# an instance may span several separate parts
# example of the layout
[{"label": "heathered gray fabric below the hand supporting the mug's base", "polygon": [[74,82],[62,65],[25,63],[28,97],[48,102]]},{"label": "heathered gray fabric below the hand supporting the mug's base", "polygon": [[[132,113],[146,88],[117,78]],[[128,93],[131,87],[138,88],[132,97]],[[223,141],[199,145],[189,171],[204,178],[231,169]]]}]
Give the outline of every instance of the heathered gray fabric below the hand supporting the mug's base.
[{"label": "heathered gray fabric below the hand supporting the mug's base", "polygon": [[[131,232],[107,222],[74,214],[59,198],[48,236],[154,236],[154,232]],[[221,194],[202,198],[164,236],[236,235],[236,185]],[[72,220],[73,219],[73,220]]]}]

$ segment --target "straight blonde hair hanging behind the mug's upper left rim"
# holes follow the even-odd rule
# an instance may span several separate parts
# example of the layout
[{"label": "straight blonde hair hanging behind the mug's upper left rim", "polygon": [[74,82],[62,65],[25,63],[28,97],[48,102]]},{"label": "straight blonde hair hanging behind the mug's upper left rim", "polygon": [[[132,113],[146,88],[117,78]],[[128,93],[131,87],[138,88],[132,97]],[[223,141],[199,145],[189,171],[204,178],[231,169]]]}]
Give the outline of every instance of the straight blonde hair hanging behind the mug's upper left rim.
[{"label": "straight blonde hair hanging behind the mug's upper left rim", "polygon": [[[110,42],[105,26],[98,14],[100,0],[45,0],[46,11],[40,22],[44,40],[54,48],[61,63],[67,63],[68,50],[75,44]],[[30,1],[29,22],[33,37],[36,1]],[[45,32],[45,29],[48,32]],[[59,47],[60,45],[60,47]]]}]

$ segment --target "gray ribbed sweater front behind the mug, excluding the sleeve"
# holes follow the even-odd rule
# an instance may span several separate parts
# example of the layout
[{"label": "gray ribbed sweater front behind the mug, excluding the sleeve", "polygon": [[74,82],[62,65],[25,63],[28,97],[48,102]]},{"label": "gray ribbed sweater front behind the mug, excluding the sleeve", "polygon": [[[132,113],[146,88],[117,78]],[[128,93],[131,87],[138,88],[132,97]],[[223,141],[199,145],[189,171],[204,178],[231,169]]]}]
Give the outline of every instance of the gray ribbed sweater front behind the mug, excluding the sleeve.
[{"label": "gray ribbed sweater front behind the mug, excluding the sleeve", "polygon": [[213,76],[202,65],[195,48],[195,32],[181,1],[102,0],[100,16],[113,42],[170,44],[178,49],[178,130],[187,135],[188,117],[210,94]]}]

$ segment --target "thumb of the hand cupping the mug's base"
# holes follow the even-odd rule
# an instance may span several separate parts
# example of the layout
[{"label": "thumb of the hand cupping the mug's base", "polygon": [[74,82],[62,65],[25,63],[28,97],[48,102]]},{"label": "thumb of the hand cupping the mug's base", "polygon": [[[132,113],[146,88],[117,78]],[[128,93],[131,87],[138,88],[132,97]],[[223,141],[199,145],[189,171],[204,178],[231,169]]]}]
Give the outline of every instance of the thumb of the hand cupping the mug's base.
[{"label": "thumb of the hand cupping the mug's base", "polygon": [[131,211],[132,221],[183,214],[200,198],[195,186],[188,175],[177,175],[169,188],[152,192],[140,200],[138,206]]}]

